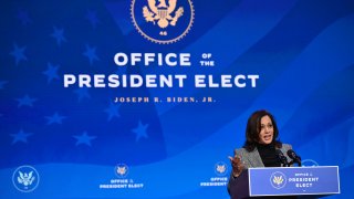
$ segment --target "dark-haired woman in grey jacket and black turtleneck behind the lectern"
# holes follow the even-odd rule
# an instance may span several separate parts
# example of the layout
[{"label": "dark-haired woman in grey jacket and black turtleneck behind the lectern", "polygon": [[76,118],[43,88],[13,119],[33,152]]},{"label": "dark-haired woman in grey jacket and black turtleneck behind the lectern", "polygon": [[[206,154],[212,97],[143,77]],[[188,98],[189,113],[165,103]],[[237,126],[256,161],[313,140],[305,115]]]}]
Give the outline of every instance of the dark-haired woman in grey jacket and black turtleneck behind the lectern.
[{"label": "dark-haired woman in grey jacket and black turtleneck behind the lectern", "polygon": [[231,184],[237,182],[243,170],[251,167],[281,167],[281,158],[287,163],[291,160],[287,151],[291,145],[282,144],[274,117],[267,111],[257,111],[248,119],[246,142],[242,148],[235,150],[235,156],[229,157],[232,166],[228,191]]}]

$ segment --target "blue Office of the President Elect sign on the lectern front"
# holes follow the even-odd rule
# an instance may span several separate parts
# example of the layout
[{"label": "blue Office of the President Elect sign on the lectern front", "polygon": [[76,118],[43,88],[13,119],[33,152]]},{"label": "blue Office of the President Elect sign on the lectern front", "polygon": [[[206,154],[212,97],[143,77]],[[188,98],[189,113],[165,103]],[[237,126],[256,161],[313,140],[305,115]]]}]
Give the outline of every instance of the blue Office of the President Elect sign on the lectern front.
[{"label": "blue Office of the President Elect sign on the lectern front", "polygon": [[249,196],[340,193],[337,166],[249,168]]}]

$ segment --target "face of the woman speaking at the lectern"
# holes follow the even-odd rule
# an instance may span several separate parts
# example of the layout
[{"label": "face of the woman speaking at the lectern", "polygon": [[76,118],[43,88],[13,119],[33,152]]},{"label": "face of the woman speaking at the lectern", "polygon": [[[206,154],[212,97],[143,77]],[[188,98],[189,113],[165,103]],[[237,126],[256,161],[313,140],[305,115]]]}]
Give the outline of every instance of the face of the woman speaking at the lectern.
[{"label": "face of the woman speaking at the lectern", "polygon": [[271,144],[273,140],[274,128],[273,123],[268,115],[261,118],[261,126],[259,133],[259,143],[263,145]]}]

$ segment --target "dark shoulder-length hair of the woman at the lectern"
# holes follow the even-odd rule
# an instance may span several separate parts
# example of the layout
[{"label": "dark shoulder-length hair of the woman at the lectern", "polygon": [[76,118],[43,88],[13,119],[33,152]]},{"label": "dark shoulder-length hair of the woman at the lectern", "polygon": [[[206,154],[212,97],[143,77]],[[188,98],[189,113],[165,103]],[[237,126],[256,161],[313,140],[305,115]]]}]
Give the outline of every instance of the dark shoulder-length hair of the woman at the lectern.
[{"label": "dark shoulder-length hair of the woman at the lectern", "polygon": [[277,140],[279,130],[275,123],[275,119],[272,114],[269,112],[261,109],[254,112],[250,118],[248,118],[247,127],[246,127],[246,142],[243,145],[243,148],[246,148],[248,151],[254,150],[257,144],[259,143],[259,133],[261,132],[261,118],[264,116],[269,116],[273,124],[273,140],[272,145],[274,145],[277,148],[281,148],[282,143],[280,140]]}]

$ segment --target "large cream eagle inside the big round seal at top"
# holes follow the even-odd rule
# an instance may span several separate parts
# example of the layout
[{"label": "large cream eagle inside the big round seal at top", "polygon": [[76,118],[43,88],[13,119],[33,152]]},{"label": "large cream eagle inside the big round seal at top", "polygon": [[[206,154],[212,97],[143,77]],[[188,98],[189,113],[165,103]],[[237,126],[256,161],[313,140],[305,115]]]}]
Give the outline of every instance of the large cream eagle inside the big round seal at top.
[{"label": "large cream eagle inside the big round seal at top", "polygon": [[[148,7],[143,7],[143,15],[147,22],[152,22],[162,29],[167,28],[168,25],[175,27],[178,19],[184,14],[184,8],[179,7],[177,11],[176,4],[177,0],[168,0],[168,6],[166,0],[158,0],[158,4],[155,0],[147,0]],[[175,11],[175,12],[174,12]],[[167,35],[167,32],[163,32],[164,35]]]}]

